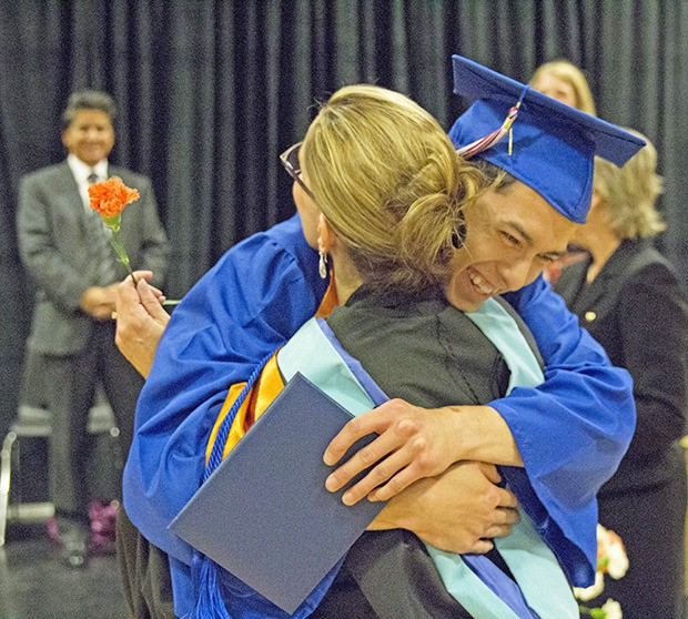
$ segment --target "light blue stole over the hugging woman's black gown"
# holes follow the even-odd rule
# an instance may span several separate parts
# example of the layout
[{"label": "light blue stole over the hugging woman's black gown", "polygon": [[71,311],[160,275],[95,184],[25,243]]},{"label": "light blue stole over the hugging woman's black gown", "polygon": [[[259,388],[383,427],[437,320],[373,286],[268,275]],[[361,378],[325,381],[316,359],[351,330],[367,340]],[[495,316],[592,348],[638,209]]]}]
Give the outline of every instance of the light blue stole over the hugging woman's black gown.
[{"label": "light blue stole over the hugging woman's black gown", "polygon": [[[504,356],[510,371],[507,393],[516,386],[533,387],[544,380],[535,354],[516,321],[498,302],[489,298],[477,312],[466,316]],[[300,372],[353,415],[371,410],[387,399],[361,364],[338,346],[322,319],[313,318],[299,329],[277,353],[277,365],[285,382]],[[554,552],[523,510],[512,534],[496,539],[495,544],[528,606],[540,619],[579,618],[578,605]],[[479,619],[523,618],[466,565],[461,555],[425,546],[447,591],[471,615]]]}]

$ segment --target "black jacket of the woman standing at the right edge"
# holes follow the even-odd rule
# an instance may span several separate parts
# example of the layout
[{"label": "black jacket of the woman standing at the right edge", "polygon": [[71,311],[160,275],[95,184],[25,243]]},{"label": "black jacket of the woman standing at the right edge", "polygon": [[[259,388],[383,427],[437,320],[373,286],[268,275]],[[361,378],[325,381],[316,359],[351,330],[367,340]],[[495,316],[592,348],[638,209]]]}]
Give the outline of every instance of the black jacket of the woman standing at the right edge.
[{"label": "black jacket of the woman standing at the right edge", "polygon": [[634,379],[638,424],[606,493],[664,484],[681,458],[686,432],[688,300],[649,241],[624,241],[590,284],[590,260],[564,271],[555,290]]}]

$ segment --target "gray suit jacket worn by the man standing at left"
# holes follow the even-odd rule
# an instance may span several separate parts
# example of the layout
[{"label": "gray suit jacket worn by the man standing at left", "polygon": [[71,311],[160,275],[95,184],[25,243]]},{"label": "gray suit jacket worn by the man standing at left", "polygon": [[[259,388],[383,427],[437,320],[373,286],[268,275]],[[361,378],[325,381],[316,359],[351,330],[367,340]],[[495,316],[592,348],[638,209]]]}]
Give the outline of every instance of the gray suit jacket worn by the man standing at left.
[{"label": "gray suit jacket worn by the man standing at left", "polygon": [[[155,274],[154,284],[160,285],[169,244],[151,182],[113,165],[109,174],[139,190],[141,197],[122,214],[122,242],[132,268],[150,268]],[[89,341],[93,321],[79,308],[79,300],[88,287],[98,285],[99,265],[83,212],[67,161],[21,180],[17,232],[22,263],[37,285],[31,347],[40,353],[74,354]],[[114,281],[127,275],[124,266],[117,264]]]}]

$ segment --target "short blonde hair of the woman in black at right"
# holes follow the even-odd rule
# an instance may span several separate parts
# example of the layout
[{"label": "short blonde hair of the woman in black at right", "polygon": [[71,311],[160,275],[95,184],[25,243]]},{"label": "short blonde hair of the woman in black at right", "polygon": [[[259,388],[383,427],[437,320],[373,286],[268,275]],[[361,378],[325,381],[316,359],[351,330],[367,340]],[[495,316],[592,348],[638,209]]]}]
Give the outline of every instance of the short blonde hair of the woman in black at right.
[{"label": "short blonde hair of the woman in black at right", "polygon": [[644,139],[647,145],[624,168],[595,158],[593,190],[601,199],[607,222],[617,236],[655,236],[667,227],[655,207],[661,193],[657,151],[641,133],[630,129],[626,131]]}]

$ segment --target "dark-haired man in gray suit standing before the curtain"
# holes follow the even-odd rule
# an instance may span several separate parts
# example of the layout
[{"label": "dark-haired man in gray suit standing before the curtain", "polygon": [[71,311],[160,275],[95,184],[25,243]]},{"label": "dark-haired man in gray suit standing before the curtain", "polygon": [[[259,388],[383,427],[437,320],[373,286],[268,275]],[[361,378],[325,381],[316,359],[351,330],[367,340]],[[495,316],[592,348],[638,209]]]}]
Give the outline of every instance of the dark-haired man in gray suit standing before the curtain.
[{"label": "dark-haired man in gray suit standing before the curtain", "polygon": [[115,288],[127,272],[109,246],[110,232],[89,207],[89,184],[117,175],[139,190],[140,199],[122,214],[121,236],[131,263],[152,270],[158,285],[169,253],[150,180],[108,162],[114,116],[109,94],[74,92],[62,116],[67,160],[28,174],[19,190],[19,247],[37,287],[29,353],[43,368],[44,403],[53,419],[51,497],[64,558],[73,567],[85,561],[87,420],[97,385],[108,396],[125,453],[143,384],[114,345]]}]

